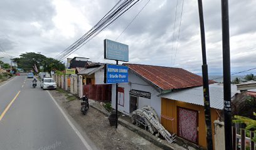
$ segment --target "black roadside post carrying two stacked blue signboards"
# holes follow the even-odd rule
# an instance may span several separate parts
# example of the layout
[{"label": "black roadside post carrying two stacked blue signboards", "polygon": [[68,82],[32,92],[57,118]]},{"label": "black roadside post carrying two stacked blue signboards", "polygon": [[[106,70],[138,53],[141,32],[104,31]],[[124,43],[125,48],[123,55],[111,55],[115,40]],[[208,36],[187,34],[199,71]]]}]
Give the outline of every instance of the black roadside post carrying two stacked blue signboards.
[{"label": "black roadside post carrying two stacked blue signboards", "polygon": [[115,128],[117,128],[118,122],[118,84],[128,83],[128,67],[118,66],[118,61],[129,61],[129,46],[120,42],[111,41],[109,39],[104,40],[104,59],[115,60],[116,65],[105,65],[105,78],[104,83],[115,83]]}]

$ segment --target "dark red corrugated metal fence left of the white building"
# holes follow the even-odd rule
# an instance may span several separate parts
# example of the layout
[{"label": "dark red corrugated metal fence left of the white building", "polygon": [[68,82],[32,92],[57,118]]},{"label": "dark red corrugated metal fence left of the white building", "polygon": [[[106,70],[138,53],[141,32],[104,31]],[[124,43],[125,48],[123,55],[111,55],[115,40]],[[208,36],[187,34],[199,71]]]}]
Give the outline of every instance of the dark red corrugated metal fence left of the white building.
[{"label": "dark red corrugated metal fence left of the white building", "polygon": [[95,101],[111,101],[112,85],[111,84],[101,84],[101,85],[83,85],[83,93],[88,94],[89,99]]}]

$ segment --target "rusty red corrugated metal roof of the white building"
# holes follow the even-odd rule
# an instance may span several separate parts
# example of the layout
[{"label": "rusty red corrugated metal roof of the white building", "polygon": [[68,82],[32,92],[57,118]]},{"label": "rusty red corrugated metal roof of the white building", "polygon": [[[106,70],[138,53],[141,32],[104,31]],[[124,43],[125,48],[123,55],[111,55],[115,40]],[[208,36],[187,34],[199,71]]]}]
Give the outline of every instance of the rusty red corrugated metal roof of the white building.
[{"label": "rusty red corrugated metal roof of the white building", "polygon": [[[163,90],[183,89],[203,85],[203,78],[201,76],[181,68],[144,64],[124,65]],[[215,81],[209,81],[209,83],[215,83]]]}]

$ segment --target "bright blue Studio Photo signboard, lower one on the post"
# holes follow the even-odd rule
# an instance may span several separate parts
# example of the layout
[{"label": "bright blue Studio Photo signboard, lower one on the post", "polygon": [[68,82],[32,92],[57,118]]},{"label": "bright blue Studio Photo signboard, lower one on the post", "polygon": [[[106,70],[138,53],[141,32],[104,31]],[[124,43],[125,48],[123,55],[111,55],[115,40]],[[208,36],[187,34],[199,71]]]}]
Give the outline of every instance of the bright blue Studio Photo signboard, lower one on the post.
[{"label": "bright blue Studio Photo signboard, lower one on the post", "polygon": [[128,67],[105,64],[104,83],[128,83]]}]

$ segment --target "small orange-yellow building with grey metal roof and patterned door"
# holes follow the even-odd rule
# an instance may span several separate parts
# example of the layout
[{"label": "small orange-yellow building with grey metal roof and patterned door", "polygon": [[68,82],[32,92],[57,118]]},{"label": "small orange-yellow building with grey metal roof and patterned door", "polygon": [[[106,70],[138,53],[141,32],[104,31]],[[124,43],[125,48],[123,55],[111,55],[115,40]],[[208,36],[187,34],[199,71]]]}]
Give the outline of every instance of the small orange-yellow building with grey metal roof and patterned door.
[{"label": "small orange-yellow building with grey metal roof and patterned door", "polygon": [[[214,143],[215,120],[221,119],[223,85],[210,84],[211,129]],[[206,148],[205,108],[203,87],[195,87],[161,94],[161,124],[170,133]],[[232,86],[232,97],[239,93]],[[214,144],[213,144],[214,145]]]}]

